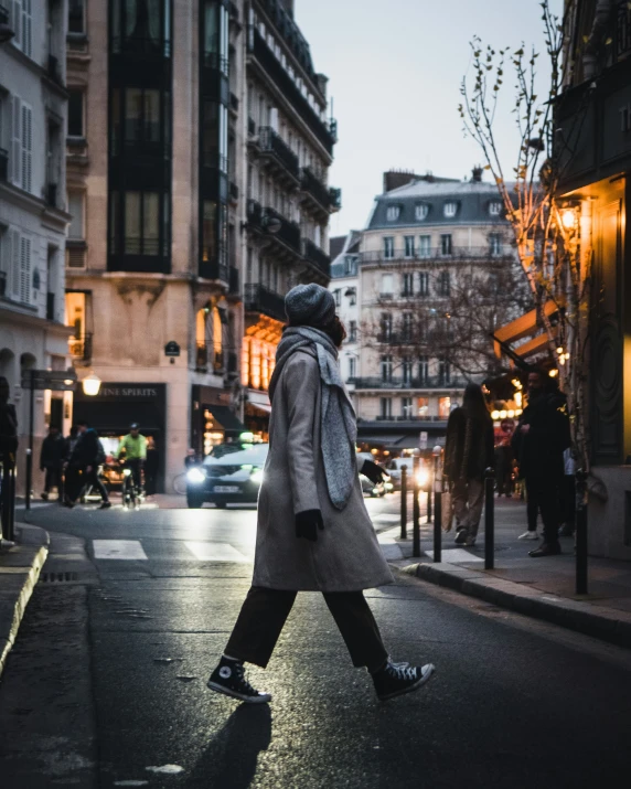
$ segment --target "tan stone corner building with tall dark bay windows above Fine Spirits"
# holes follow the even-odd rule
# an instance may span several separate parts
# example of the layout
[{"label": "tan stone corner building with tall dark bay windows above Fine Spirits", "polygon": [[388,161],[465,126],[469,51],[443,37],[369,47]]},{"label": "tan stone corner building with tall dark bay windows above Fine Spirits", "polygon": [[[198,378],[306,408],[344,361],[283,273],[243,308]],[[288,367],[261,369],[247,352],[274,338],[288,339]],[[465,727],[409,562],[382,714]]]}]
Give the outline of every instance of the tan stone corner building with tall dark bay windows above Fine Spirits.
[{"label": "tan stone corner building with tall dark bay windows above Fine Spirits", "polygon": [[[314,268],[303,256],[300,183],[277,172],[298,157],[278,109],[282,89],[265,104],[265,125],[253,130],[246,109],[259,96],[249,96],[247,75],[264,20],[268,50],[275,25],[297,31],[290,9],[261,6],[73,3],[66,320],[79,377],[94,371],[103,381],[97,397],[75,395],[74,414],[113,437],[139,422],[156,438],[162,490],[189,447],[207,454],[245,429],[249,387],[263,406],[249,426],[265,435],[278,303],[290,284],[328,281],[328,213]],[[271,54],[281,67],[280,51]],[[258,212],[248,199],[254,170],[265,184]],[[263,356],[268,374],[263,362],[250,374]]]}]

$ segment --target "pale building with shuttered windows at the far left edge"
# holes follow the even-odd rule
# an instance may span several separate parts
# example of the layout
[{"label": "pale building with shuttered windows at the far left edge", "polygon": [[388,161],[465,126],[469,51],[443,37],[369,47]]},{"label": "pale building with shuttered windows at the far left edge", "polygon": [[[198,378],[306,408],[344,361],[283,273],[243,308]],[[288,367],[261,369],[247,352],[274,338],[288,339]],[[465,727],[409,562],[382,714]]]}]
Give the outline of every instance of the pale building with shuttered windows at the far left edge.
[{"label": "pale building with shuttered windows at the far left edge", "polygon": [[[12,32],[0,43],[0,375],[9,381],[18,412],[18,492],[23,493],[30,396],[21,382],[31,369],[69,365],[64,322],[67,2],[13,2],[0,21]],[[71,393],[35,393],[35,487],[46,427],[69,428],[71,407]]]}]

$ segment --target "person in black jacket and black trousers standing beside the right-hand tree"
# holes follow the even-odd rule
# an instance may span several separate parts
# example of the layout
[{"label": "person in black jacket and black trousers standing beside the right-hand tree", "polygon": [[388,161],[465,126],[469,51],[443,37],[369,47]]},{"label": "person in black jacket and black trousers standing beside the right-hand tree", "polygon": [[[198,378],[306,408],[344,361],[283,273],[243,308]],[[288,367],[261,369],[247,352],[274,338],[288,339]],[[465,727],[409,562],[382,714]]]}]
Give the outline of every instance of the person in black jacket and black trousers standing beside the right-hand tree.
[{"label": "person in black jacket and black trousers standing beside the right-hand tree", "polygon": [[545,390],[541,370],[528,373],[528,405],[513,434],[512,447],[526,482],[528,531],[521,539],[537,537],[537,514],[544,522],[544,539],[530,552],[533,557],[560,553],[558,500],[564,476],[564,450],[569,446],[567,405]]}]

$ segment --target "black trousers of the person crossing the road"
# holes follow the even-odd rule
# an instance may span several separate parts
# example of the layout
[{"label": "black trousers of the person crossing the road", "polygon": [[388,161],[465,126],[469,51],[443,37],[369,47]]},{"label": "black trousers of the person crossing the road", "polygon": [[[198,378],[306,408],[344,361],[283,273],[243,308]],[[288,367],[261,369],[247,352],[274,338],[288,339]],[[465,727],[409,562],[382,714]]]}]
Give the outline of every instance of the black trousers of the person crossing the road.
[{"label": "black trousers of the person crossing the road", "polygon": [[[296,600],[296,591],[253,586],[225,653],[265,669]],[[387,660],[379,629],[361,591],[327,591],[324,600],[342,633],[353,665],[374,672]]]}]

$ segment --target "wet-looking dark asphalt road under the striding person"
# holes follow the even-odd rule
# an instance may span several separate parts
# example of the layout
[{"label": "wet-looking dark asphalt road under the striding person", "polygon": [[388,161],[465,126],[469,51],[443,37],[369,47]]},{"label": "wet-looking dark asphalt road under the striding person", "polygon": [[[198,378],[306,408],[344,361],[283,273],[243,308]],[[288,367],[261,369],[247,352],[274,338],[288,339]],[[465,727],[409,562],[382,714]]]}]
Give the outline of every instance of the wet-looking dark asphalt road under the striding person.
[{"label": "wet-looking dark asphalt road under the striding person", "polygon": [[[255,513],[179,503],[31,511],[53,537],[44,569],[76,575],[39,585],[0,684],[3,789],[629,786],[630,652],[416,579],[367,596],[396,659],[436,663],[418,693],[377,702],[302,594],[249,672],[269,708],[212,694]],[[368,507],[394,524],[394,499]]]}]

